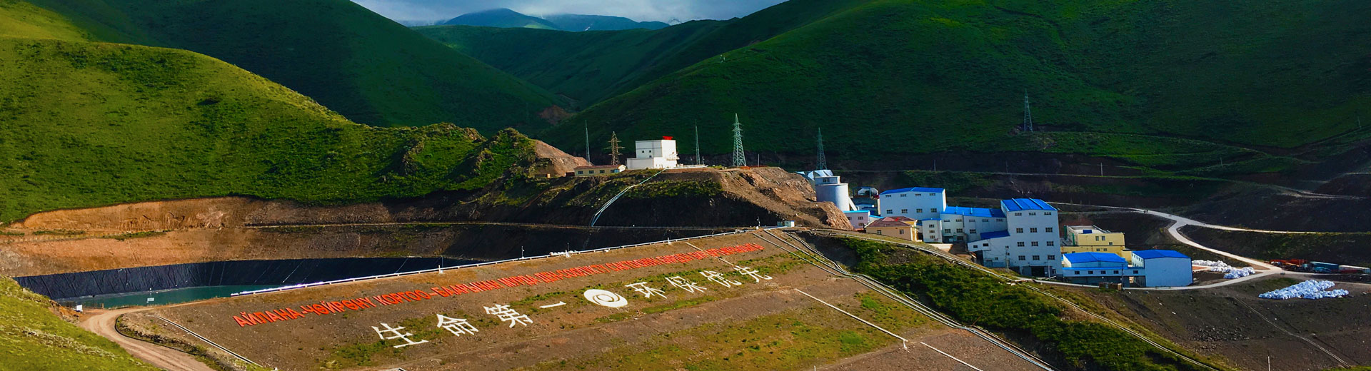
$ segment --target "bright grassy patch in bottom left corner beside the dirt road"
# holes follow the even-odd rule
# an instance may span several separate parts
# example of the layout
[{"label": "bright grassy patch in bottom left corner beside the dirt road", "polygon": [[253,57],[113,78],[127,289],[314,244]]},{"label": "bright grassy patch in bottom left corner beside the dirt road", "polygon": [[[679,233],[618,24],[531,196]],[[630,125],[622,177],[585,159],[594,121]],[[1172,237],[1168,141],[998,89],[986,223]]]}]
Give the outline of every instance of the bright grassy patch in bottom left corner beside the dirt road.
[{"label": "bright grassy patch in bottom left corner beside the dirt road", "polygon": [[0,370],[158,370],[52,308],[47,297],[0,277]]}]

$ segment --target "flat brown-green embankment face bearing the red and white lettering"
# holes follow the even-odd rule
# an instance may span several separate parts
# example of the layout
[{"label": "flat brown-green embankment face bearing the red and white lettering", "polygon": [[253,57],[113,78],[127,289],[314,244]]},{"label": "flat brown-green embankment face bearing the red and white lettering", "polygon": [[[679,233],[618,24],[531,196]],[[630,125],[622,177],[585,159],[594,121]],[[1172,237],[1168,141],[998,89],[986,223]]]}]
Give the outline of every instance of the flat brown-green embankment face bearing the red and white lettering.
[{"label": "flat brown-green embankment face bearing the red and white lettering", "polygon": [[[762,249],[450,297],[432,289],[746,244]],[[735,267],[755,268],[771,279],[739,274]],[[739,285],[725,287],[707,279],[705,271]],[[705,290],[676,287],[668,282],[670,277]],[[636,282],[662,292],[643,297],[625,286]],[[613,292],[627,305],[595,304],[584,296],[590,289]],[[432,298],[250,326],[234,320],[245,314],[299,312],[302,305],[414,290]],[[487,308],[498,304],[526,315],[531,323],[511,327],[488,314]],[[217,298],[144,314],[280,370],[1035,370],[976,335],[802,261],[757,233]],[[437,315],[466,319],[477,331],[455,335],[436,326]],[[422,344],[395,348],[406,341],[383,340],[377,330],[385,326],[406,327],[399,333]],[[199,342],[169,323],[144,327]]]}]

